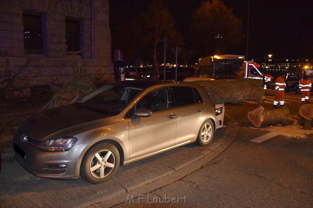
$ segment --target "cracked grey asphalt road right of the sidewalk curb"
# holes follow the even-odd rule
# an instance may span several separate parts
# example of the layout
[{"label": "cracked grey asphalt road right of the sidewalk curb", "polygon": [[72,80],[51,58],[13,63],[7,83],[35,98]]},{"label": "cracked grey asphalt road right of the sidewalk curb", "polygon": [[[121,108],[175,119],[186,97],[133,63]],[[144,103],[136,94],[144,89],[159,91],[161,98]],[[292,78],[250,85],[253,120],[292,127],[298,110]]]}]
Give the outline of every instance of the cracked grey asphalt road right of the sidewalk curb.
[{"label": "cracked grey asphalt road right of the sidewalk curb", "polygon": [[[267,91],[265,109],[272,108],[273,94]],[[296,115],[302,105],[300,95],[286,94],[286,101],[290,114]],[[177,175],[176,180],[171,174],[160,179],[163,182],[91,206],[312,207],[312,133],[305,138],[277,135],[263,143],[252,142],[268,133],[251,128],[246,115],[255,106],[253,102],[226,106],[238,123],[236,136],[226,150],[196,171]]]}]

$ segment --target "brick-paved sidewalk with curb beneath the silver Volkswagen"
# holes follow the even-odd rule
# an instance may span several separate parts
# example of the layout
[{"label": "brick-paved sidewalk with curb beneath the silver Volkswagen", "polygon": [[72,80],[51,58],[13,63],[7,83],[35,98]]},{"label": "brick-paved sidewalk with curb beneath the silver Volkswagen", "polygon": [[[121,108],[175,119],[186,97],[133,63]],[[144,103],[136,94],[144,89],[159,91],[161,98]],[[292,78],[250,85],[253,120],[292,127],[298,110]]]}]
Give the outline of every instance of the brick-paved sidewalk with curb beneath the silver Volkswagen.
[{"label": "brick-paved sidewalk with curb beneath the silver Volkswagen", "polygon": [[[226,119],[226,116],[225,116]],[[218,129],[209,146],[188,144],[161,154],[120,166],[115,176],[101,184],[83,179],[52,180],[33,176],[14,159],[13,152],[3,154],[0,172],[0,208],[69,207],[98,195],[113,197],[157,180],[208,154],[227,137],[230,122]]]}]

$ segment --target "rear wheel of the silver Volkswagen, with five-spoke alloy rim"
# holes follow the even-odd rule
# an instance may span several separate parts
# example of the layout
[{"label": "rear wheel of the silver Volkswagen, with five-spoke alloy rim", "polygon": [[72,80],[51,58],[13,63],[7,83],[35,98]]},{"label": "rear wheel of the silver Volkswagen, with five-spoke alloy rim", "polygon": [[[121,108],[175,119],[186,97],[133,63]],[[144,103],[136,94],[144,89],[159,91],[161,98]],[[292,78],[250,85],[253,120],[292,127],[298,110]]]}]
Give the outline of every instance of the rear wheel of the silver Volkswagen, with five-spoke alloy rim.
[{"label": "rear wheel of the silver Volkswagen, with five-spoke alloy rim", "polygon": [[214,134],[214,125],[213,122],[208,119],[200,127],[197,143],[200,146],[205,146],[211,142]]}]

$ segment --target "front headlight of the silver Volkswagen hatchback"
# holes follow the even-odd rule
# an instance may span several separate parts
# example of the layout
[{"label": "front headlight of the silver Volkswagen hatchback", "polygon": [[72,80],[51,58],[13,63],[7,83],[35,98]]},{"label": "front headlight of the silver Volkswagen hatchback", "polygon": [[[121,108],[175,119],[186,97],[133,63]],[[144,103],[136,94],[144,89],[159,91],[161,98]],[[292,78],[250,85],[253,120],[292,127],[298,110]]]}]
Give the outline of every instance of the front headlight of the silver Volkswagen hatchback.
[{"label": "front headlight of the silver Volkswagen hatchback", "polygon": [[43,151],[68,151],[76,142],[75,137],[60,137],[42,141],[37,148]]}]

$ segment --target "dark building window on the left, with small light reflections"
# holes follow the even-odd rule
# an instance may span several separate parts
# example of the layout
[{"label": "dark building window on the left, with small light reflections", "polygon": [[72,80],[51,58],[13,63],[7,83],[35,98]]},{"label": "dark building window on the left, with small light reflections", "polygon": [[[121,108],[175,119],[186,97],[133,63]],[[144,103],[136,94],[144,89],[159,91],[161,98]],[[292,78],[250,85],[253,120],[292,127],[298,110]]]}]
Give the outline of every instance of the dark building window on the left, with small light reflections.
[{"label": "dark building window on the left, with small light reflections", "polygon": [[43,52],[41,15],[23,13],[24,49],[29,53]]}]

